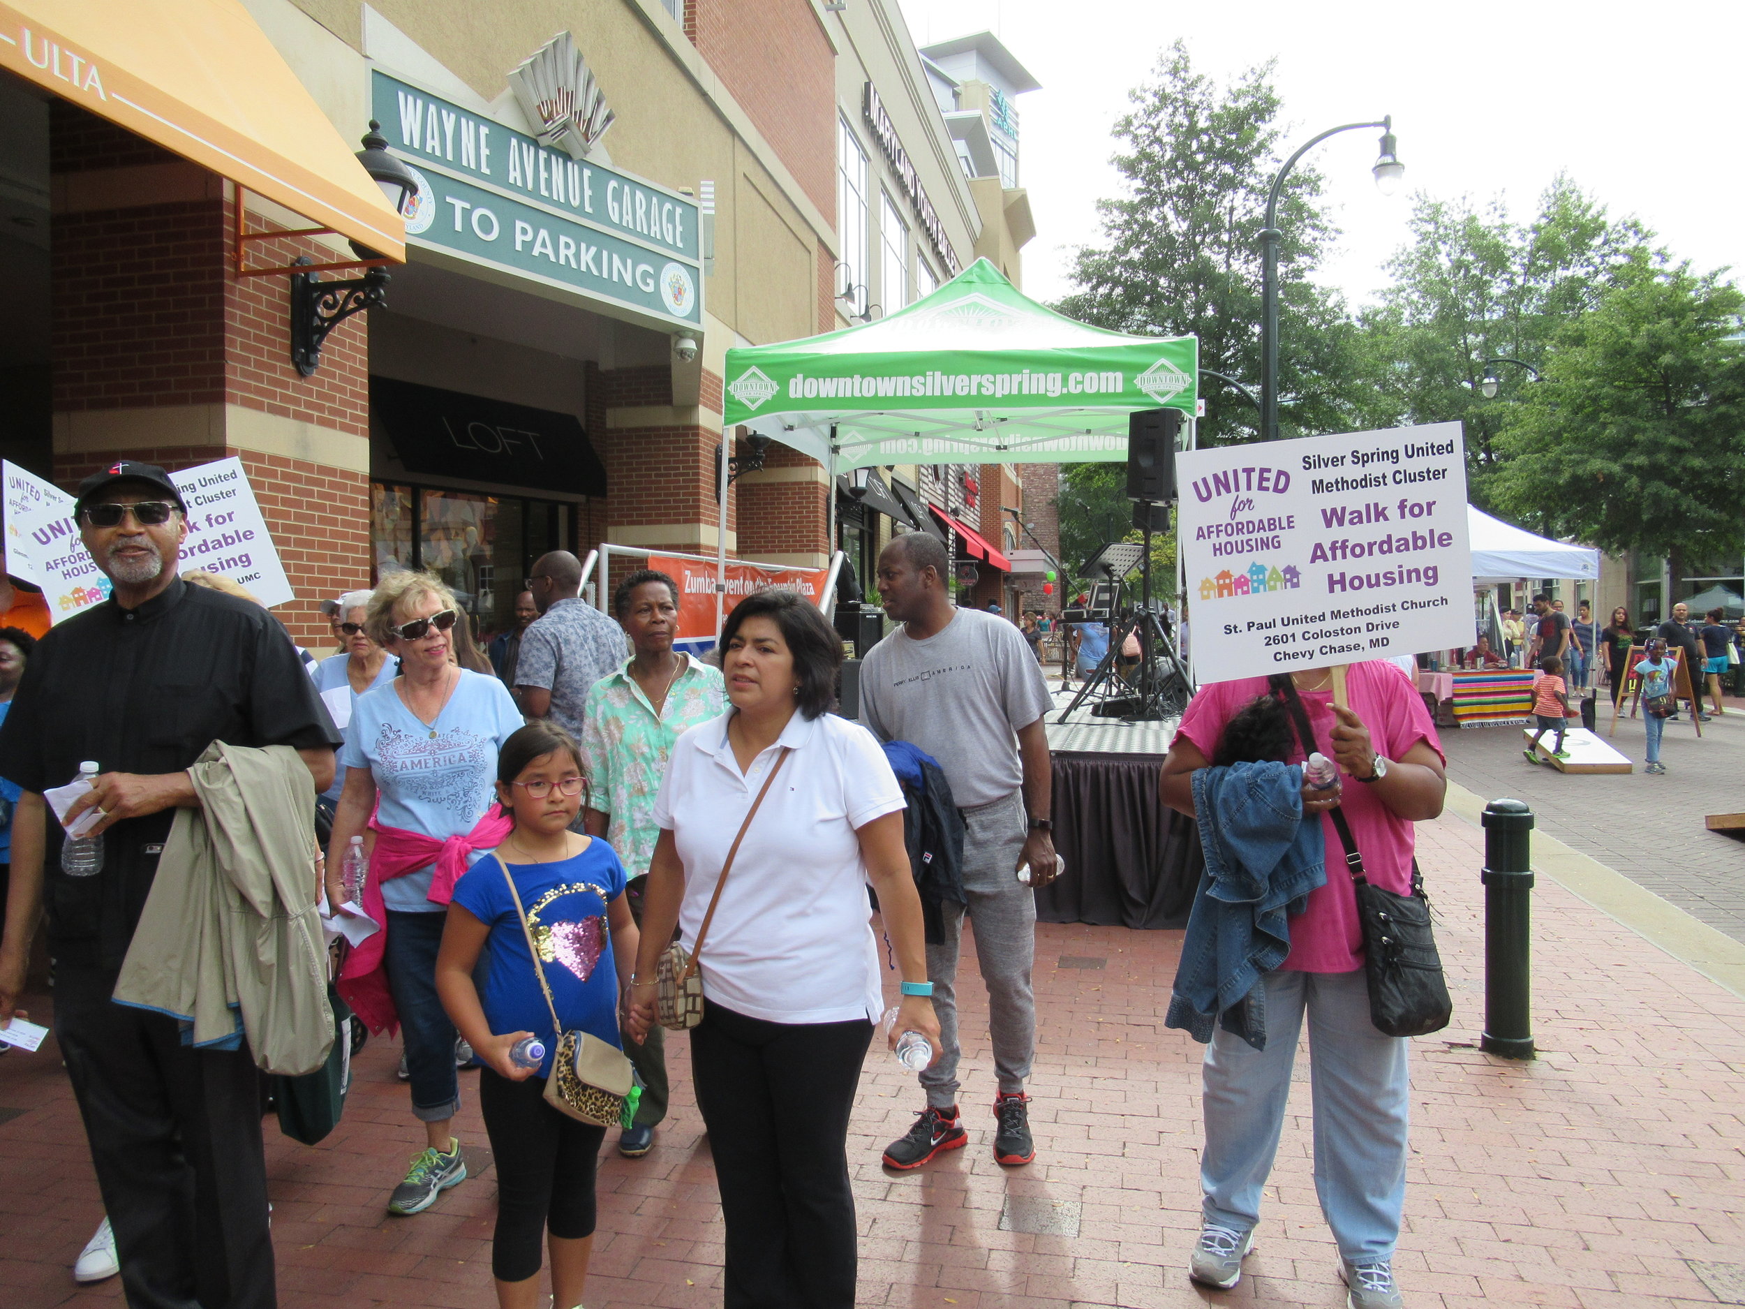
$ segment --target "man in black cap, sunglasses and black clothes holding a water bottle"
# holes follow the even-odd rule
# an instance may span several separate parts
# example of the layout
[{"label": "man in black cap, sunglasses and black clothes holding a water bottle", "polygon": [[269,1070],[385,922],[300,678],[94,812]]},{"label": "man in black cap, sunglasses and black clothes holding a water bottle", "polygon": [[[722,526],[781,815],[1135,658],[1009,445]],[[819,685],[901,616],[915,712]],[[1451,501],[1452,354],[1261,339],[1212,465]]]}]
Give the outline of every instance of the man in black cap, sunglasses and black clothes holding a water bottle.
[{"label": "man in black cap, sunglasses and black clothes holding a water bottle", "polygon": [[[188,510],[162,468],[120,461],[73,508],[110,597],[44,637],[0,726],[0,777],[23,787],[0,941],[0,1023],[24,990],[47,887],[54,1033],[86,1121],[129,1306],[260,1309],[276,1300],[260,1089],[246,1040],[194,1049],[171,1016],[110,997],[178,808],[215,740],[291,745],[316,791],[340,737],[277,620],[176,576]],[[59,869],[42,792],[91,759],[94,876]],[[49,874],[44,878],[44,867]]]}]

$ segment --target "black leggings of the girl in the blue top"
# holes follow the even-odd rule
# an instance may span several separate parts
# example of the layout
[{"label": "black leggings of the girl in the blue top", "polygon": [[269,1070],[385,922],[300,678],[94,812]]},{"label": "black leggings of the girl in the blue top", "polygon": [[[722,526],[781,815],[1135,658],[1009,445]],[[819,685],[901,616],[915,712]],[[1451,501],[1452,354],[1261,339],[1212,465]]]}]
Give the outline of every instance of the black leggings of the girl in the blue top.
[{"label": "black leggings of the girl in the blue top", "polygon": [[511,1082],[482,1068],[478,1108],[497,1164],[490,1272],[499,1281],[525,1281],[544,1264],[548,1229],[560,1241],[593,1236],[593,1169],[606,1127],[551,1108],[537,1073]]}]

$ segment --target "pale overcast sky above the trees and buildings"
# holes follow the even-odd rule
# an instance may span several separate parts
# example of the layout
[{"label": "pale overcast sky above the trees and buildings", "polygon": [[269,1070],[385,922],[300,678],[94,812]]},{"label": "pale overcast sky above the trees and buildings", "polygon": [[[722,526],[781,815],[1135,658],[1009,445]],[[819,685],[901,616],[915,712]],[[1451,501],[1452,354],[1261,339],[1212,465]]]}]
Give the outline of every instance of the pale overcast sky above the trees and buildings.
[{"label": "pale overcast sky above the trees and buildings", "polygon": [[1394,117],[1405,185],[1370,176],[1379,133],[1309,155],[1344,236],[1323,281],[1372,298],[1406,241],[1410,195],[1501,195],[1525,218],[1558,171],[1612,215],[1633,213],[1698,269],[1742,265],[1740,58],[1745,3],[1157,3],[1157,0],[902,0],[918,45],[995,31],[1042,82],[1017,99],[1021,182],[1037,237],[1024,290],[1071,290],[1070,251],[1099,239],[1117,192],[1110,127],[1178,37],[1225,82],[1277,59],[1293,150],[1342,122]]}]

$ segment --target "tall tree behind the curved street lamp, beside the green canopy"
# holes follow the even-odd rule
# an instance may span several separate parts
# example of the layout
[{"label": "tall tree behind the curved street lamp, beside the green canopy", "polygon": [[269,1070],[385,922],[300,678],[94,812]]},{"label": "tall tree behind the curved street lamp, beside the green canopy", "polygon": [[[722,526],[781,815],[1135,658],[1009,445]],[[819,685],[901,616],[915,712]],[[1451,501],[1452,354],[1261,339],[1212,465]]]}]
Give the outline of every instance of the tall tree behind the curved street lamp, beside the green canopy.
[{"label": "tall tree behind the curved street lamp, beside the green canopy", "polygon": [[[1103,243],[1077,251],[1078,290],[1056,309],[1139,335],[1199,337],[1201,367],[1251,389],[1260,379],[1260,230],[1281,162],[1272,65],[1230,86],[1195,73],[1176,42],[1131,93],[1115,124],[1124,195],[1098,202]],[[1309,278],[1337,237],[1319,202],[1321,178],[1298,168],[1284,185],[1279,229],[1279,391],[1288,435],[1338,431],[1373,387],[1351,386],[1365,358],[1338,297]],[[1255,440],[1255,407],[1216,379],[1201,387],[1199,443]]]}]

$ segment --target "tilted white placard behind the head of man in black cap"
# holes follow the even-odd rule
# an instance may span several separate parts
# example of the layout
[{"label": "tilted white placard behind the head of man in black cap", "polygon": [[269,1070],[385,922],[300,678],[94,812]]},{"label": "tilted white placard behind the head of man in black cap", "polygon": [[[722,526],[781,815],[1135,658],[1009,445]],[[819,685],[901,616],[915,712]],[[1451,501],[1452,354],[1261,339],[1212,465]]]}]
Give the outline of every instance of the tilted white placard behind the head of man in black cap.
[{"label": "tilted white placard behind the head of man in black cap", "polygon": [[[110,579],[98,571],[79,538],[72,518],[73,497],[17,464],[5,463],[0,471],[5,480],[7,569],[42,586],[49,620],[59,623],[106,599]],[[241,459],[183,468],[169,480],[188,506],[183,572],[223,572],[265,606],[297,597]]]}]

